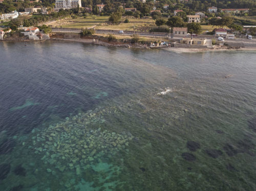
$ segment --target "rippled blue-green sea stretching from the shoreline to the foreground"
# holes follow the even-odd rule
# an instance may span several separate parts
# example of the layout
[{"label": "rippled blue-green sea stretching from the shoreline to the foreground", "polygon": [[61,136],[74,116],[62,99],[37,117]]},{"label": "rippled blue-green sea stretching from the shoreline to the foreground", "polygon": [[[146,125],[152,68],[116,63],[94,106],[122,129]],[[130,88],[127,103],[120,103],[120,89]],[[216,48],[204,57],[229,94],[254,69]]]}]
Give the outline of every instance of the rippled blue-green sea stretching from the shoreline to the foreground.
[{"label": "rippled blue-green sea stretching from the shoreline to the foreground", "polygon": [[255,106],[255,52],[1,42],[0,190],[256,190]]}]

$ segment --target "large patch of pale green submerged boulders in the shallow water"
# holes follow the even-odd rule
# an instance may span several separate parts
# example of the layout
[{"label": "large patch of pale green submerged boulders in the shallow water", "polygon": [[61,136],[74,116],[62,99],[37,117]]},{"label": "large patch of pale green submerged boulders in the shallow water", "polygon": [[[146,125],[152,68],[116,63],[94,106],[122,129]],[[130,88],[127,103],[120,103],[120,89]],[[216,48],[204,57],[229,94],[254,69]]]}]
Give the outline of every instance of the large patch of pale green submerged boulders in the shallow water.
[{"label": "large patch of pale green submerged boulders in the shallow water", "polygon": [[46,169],[48,173],[53,174],[55,168],[60,172],[73,170],[80,175],[87,164],[98,162],[104,155],[115,155],[134,138],[131,133],[118,134],[101,129],[99,125],[105,123],[102,116],[105,112],[112,111],[98,108],[67,117],[65,122],[49,126],[33,136],[29,148],[42,155],[45,164],[52,165]]}]

